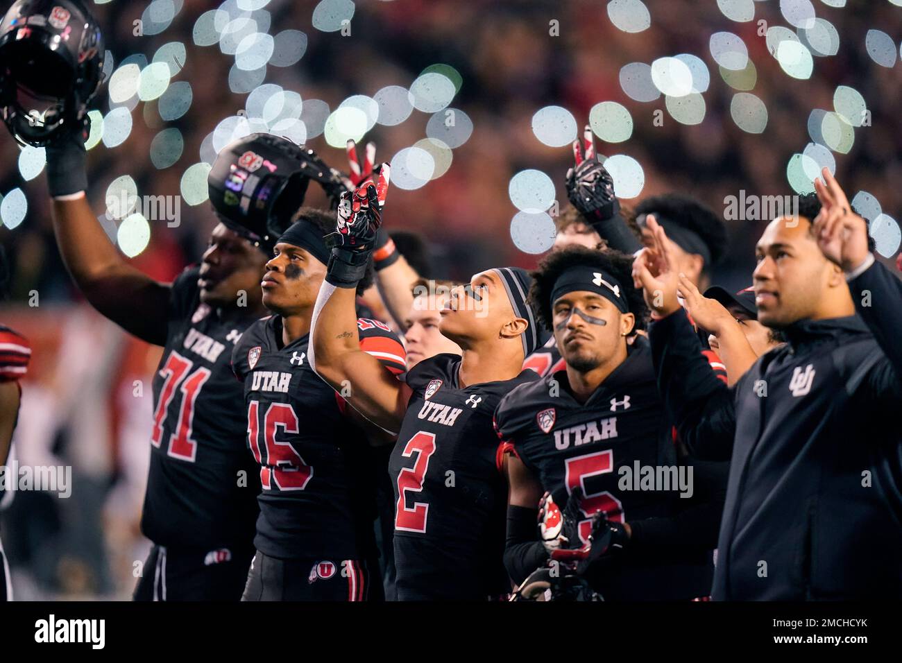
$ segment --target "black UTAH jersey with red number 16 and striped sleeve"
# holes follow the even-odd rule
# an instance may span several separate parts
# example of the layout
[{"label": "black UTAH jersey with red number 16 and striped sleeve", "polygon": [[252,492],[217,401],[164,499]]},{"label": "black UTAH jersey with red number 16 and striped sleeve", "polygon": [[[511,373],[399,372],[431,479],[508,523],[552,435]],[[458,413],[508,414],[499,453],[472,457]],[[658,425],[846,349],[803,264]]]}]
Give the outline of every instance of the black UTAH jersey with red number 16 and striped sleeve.
[{"label": "black UTAH jersey with red number 16 and striped sleeve", "polygon": [[[403,373],[398,336],[359,318],[360,346]],[[376,465],[339,393],[310,368],[309,335],[282,345],[279,316],[254,323],[235,346],[244,382],[247,445],[262,491],[256,548],[281,559],[365,559],[375,553]],[[350,388],[351,385],[349,385]]]}]

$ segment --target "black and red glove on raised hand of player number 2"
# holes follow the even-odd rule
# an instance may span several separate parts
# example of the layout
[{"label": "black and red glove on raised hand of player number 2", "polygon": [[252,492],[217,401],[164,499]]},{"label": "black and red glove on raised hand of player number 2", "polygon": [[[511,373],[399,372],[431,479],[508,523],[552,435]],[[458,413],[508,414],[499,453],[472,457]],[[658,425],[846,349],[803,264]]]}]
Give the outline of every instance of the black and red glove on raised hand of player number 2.
[{"label": "black and red glove on raised hand of player number 2", "polygon": [[332,248],[326,280],[339,288],[355,288],[364,278],[382,226],[389,171],[389,164],[383,163],[373,171],[373,175],[378,172],[378,184],[364,180],[353,193],[345,191],[339,198],[336,232],[326,236],[326,244]]}]

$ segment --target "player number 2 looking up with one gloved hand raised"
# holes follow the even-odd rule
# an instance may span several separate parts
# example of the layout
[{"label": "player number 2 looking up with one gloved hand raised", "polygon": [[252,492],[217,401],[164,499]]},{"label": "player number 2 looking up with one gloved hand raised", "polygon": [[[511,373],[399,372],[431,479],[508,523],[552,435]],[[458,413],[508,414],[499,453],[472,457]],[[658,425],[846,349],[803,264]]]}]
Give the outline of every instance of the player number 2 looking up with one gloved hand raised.
[{"label": "player number 2 looking up with one gloved hand raised", "polygon": [[360,350],[354,325],[354,288],[382,223],[384,194],[361,187],[339,205],[314,314],[312,363],[336,390],[353,386],[349,401],[366,418],[400,431],[391,456],[398,598],[506,594],[505,456],[492,434],[492,412],[513,387],[536,379],[521,371],[538,338],[526,304],[529,276],[486,270],[452,290],[440,329],[463,357],[436,355],[420,361],[406,383],[391,378]]}]

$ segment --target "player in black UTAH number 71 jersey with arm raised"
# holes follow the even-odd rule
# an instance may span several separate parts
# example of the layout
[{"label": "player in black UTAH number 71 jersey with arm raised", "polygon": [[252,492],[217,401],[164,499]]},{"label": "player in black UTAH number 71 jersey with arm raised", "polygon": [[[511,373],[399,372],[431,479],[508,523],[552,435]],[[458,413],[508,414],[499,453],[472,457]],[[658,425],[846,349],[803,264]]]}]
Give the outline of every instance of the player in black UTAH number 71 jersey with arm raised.
[{"label": "player in black UTAH number 71 jersey with arm raised", "polygon": [[262,217],[277,204],[299,207],[299,187],[291,191],[294,198],[275,195],[301,170],[302,155],[281,148],[252,134],[220,152],[211,175],[224,171],[230,184],[251,180],[259,186],[228,189],[222,186],[226,176],[211,180],[220,223],[200,265],[172,283],[135,269],[98,223],[86,196],[83,134],[73,132],[47,149],[53,229],[73,280],[106,318],[164,346],[153,378],[142,514],[142,531],[153,547],[135,600],[237,601],[244,590],[260,483],[245,447],[247,419],[235,407],[244,399],[242,385],[230,364],[244,329],[265,314],[260,281],[267,255],[259,238],[236,232],[242,226],[230,216],[241,208],[239,196],[267,202],[247,206]]}]

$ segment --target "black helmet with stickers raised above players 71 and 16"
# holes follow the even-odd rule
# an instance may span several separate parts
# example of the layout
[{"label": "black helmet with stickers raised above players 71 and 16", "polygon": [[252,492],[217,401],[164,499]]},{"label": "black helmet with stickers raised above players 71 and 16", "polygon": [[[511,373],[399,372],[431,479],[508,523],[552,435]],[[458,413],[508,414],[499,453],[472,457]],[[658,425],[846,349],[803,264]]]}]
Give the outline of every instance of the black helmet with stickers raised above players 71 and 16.
[{"label": "black helmet with stickers raised above players 71 and 16", "polygon": [[313,150],[276,135],[250,134],[219,152],[207,187],[216,216],[269,250],[304,204],[310,180],[333,200],[345,190],[340,173]]}]

